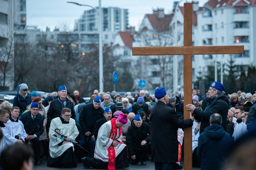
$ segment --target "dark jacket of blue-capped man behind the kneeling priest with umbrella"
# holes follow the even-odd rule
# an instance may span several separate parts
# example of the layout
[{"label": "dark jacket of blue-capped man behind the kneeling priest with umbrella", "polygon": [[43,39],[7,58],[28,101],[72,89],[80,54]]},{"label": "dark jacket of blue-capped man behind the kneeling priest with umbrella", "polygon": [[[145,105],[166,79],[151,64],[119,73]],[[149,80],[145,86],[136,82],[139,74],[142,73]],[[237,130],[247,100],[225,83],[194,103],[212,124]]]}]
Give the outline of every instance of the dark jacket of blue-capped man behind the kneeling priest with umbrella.
[{"label": "dark jacket of blue-capped man behind the kneeling priest with umbrella", "polygon": [[66,105],[64,106],[60,98],[54,99],[51,102],[50,108],[47,112],[47,124],[50,126],[52,119],[61,116],[61,111],[63,108],[69,108],[71,110],[72,119],[76,119],[76,114],[74,111],[74,104],[66,98]]}]

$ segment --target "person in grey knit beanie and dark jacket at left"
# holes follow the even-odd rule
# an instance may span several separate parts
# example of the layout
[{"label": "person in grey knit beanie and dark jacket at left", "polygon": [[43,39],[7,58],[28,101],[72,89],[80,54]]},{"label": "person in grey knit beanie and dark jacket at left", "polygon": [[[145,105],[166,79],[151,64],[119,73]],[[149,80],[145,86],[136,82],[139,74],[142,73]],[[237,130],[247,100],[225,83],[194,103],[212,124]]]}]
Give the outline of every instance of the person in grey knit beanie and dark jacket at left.
[{"label": "person in grey knit beanie and dark jacket at left", "polygon": [[19,116],[27,110],[27,106],[31,104],[31,97],[27,93],[28,87],[27,84],[22,83],[19,85],[19,92],[13,99],[13,107],[18,107],[20,109]]}]

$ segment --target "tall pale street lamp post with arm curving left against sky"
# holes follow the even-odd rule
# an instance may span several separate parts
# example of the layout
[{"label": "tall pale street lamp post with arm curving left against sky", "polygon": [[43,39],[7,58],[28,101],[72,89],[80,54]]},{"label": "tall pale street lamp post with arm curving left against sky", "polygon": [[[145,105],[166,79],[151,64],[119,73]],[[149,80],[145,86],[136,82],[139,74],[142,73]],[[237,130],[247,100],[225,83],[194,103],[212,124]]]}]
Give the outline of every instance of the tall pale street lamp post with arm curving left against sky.
[{"label": "tall pale street lamp post with arm curving left against sky", "polygon": [[90,5],[83,5],[76,2],[67,2],[76,4],[79,6],[88,6],[94,9],[97,14],[99,15],[99,92],[103,92],[104,86],[104,78],[103,78],[103,50],[102,50],[102,10],[101,10],[101,0],[99,0],[99,9],[97,10],[93,6]]}]

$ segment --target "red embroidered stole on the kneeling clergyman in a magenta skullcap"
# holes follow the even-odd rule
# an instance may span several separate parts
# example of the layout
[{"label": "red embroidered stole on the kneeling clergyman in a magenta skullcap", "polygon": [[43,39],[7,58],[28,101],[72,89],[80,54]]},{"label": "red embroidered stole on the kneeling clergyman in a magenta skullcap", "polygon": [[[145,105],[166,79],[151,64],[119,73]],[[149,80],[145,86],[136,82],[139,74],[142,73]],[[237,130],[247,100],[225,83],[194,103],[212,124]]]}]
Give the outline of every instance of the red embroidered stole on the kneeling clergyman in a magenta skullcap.
[{"label": "red embroidered stole on the kneeling clergyman in a magenta skullcap", "polygon": [[[115,140],[117,136],[117,128],[115,125],[116,118],[111,119],[110,121],[111,121],[111,131],[110,131],[109,138],[112,140]],[[123,131],[122,127],[120,127],[119,136],[121,136],[122,131]],[[115,148],[112,145],[108,148],[108,166],[107,167],[108,169],[115,169]]]}]

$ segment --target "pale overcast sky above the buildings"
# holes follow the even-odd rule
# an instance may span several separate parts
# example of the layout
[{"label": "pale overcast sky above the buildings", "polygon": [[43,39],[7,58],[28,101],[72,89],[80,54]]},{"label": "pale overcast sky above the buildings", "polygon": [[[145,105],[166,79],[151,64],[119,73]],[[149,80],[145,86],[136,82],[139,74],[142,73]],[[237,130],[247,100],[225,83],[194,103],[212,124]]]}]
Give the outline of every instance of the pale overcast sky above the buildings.
[{"label": "pale overcast sky above the buildings", "polygon": [[[84,10],[91,8],[66,3],[67,1],[93,7],[97,7],[99,2],[98,0],[26,0],[27,25],[38,26],[43,31],[48,26],[53,31],[55,27],[62,28],[65,24],[72,31],[74,21],[80,18]],[[129,24],[138,30],[145,14],[151,14],[153,8],[164,8],[165,14],[171,13],[173,2],[174,0],[101,0],[101,6],[129,9]],[[205,2],[207,0],[199,0],[199,5],[202,6]]]}]

